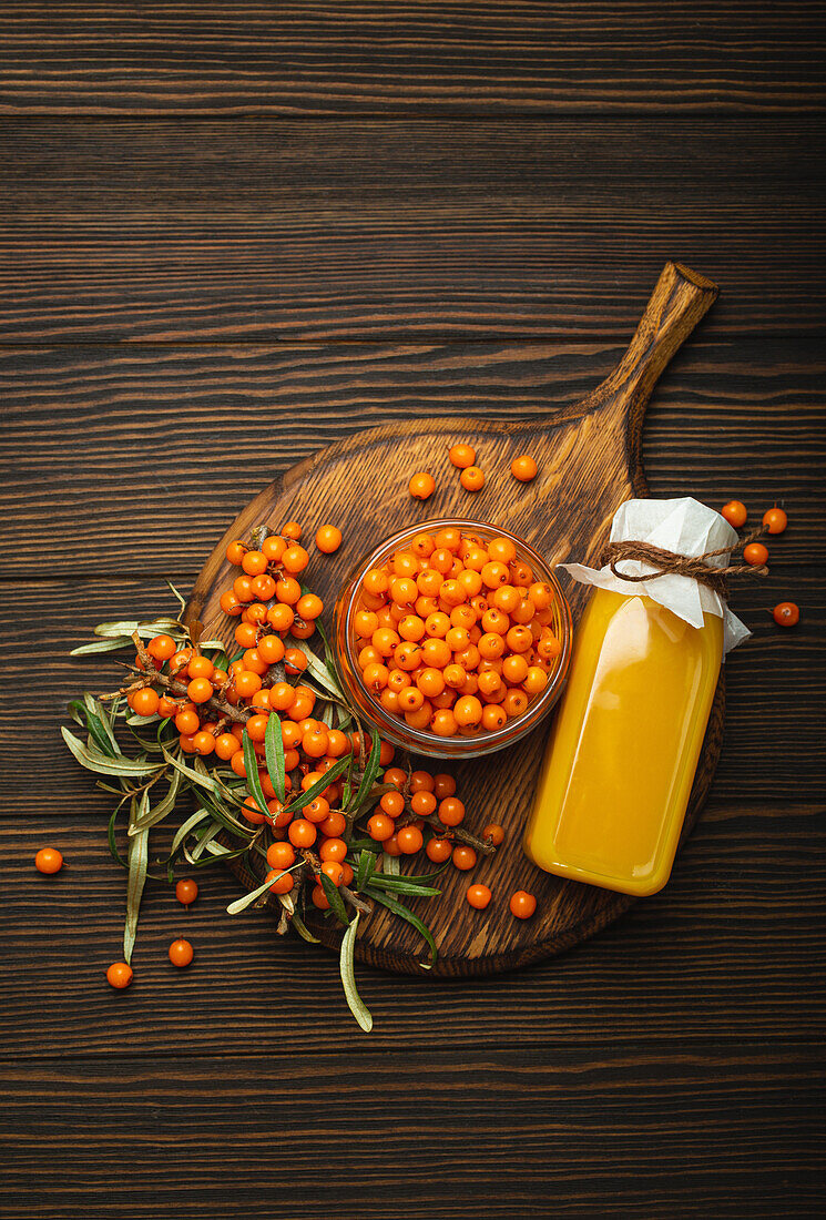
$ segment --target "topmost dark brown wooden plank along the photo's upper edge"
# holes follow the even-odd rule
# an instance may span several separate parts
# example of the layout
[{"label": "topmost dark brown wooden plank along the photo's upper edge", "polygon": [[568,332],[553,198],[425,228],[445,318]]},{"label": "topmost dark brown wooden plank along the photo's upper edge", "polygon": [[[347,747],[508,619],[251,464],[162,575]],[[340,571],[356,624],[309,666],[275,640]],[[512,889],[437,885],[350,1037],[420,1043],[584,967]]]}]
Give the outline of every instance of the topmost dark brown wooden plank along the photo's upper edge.
[{"label": "topmost dark brown wooden plank along the photo's upper edge", "polygon": [[327,0],[4,6],[9,113],[808,110],[822,9]]}]

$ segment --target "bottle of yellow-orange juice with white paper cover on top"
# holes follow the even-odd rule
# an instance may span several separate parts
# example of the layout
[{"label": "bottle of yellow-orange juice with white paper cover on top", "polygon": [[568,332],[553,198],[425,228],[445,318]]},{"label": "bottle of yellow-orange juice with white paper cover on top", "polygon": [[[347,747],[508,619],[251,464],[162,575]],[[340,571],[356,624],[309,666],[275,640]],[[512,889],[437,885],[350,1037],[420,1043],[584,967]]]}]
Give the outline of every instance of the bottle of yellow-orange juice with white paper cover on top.
[{"label": "bottle of yellow-orange juice with white paper cover on top", "polygon": [[[724,518],[692,499],[628,500],[612,542],[634,539],[678,555],[733,545]],[[725,567],[727,559],[708,560]],[[610,569],[566,565],[595,586],[575,637],[526,854],[549,872],[630,894],[669,880],[724,651],[748,632],[722,597],[665,575],[642,583]],[[621,560],[616,571],[656,569]]]}]

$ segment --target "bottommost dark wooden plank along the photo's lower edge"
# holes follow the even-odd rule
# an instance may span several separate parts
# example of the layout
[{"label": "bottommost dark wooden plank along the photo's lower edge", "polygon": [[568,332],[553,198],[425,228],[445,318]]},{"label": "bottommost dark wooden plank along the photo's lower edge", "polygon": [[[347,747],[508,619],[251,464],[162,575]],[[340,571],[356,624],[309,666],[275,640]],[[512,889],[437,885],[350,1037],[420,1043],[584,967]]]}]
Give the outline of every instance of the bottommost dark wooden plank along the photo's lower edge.
[{"label": "bottommost dark wooden plank along the photo's lower edge", "polygon": [[0,1199],[24,1220],[273,1207],[453,1220],[482,1198],[501,1220],[811,1216],[817,1059],[813,1043],[721,1052],[708,1038],[631,1055],[556,1042],[343,1060],[322,1046],[298,1059],[12,1065]]}]

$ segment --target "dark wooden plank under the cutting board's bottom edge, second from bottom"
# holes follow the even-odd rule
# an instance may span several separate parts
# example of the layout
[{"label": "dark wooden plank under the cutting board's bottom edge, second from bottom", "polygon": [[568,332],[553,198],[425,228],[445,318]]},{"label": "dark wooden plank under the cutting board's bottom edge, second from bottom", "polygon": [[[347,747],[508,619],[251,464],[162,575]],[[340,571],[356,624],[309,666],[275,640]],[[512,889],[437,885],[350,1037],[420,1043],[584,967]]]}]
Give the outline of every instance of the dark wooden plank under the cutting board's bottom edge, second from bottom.
[{"label": "dark wooden plank under the cutting board's bottom edge, second from bottom", "polygon": [[[709,810],[669,886],[571,953],[486,980],[360,966],[375,1017],[368,1046],[432,1048],[434,1028],[440,1047],[462,1053],[551,1041],[588,1054],[633,1053],[709,1038],[733,1050],[742,1038],[816,1038],[826,999],[819,969],[826,878],[816,837],[824,806],[728,799]],[[320,1030],[343,1057],[365,1047],[336,955],[281,939],[265,911],[227,915],[239,889],[220,869],[200,875],[189,909],[165,883],[148,884],[134,982],[112,992],[105,971],[122,954],[124,874],[109,856],[105,819],[95,826],[72,800],[55,822],[29,808],[26,821],[0,826],[4,944],[15,961],[0,1016],[6,1057],[316,1055]],[[46,842],[66,855],[55,877],[32,864]],[[179,936],[195,948],[185,971],[167,958]]]}]

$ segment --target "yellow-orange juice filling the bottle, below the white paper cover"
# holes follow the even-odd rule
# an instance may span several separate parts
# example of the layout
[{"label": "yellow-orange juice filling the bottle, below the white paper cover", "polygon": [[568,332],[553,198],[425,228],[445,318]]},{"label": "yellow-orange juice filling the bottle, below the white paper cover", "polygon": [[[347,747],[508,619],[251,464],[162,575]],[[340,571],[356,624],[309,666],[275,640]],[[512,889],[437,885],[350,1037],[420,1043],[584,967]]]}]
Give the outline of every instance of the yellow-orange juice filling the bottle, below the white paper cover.
[{"label": "yellow-orange juice filling the bottle, below the white paper cover", "polygon": [[630,894],[663,888],[722,642],[716,615],[697,628],[648,597],[594,590],[525,833],[539,867]]}]

